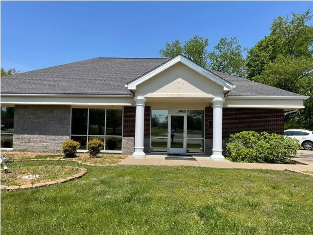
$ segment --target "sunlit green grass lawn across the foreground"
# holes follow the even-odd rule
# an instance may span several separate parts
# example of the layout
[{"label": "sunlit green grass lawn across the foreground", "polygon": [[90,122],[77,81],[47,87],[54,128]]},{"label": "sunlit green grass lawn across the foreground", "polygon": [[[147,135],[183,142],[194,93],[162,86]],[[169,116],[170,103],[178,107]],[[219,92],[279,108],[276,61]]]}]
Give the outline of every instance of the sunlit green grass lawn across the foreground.
[{"label": "sunlit green grass lawn across the foreground", "polygon": [[[74,162],[19,162],[8,167]],[[1,234],[312,234],[313,178],[205,167],[86,167],[81,179],[1,192]]]}]

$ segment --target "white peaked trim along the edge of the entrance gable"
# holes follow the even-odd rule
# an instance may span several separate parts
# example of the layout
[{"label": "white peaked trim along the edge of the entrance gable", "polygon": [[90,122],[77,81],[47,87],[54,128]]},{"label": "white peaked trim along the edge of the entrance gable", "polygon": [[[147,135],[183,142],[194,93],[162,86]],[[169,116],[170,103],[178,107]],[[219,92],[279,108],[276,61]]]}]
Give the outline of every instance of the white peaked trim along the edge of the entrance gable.
[{"label": "white peaked trim along the edge of the entrance gable", "polygon": [[191,68],[192,70],[202,74],[203,76],[209,78],[211,81],[217,83],[218,85],[223,87],[224,91],[231,91],[233,90],[233,88],[235,87],[234,85],[232,85],[231,83],[227,82],[226,80],[224,80],[223,78],[215,75],[212,72],[209,72],[208,70],[202,68],[201,66],[197,65],[196,63],[192,62],[191,60],[187,59],[185,56],[179,54],[177,56],[175,56],[173,59],[167,61],[166,63],[164,63],[163,65],[157,67],[156,69],[144,74],[141,77],[138,77],[137,79],[135,79],[134,81],[130,82],[129,84],[125,85],[125,87],[127,87],[128,90],[137,90],[137,86],[145,81],[147,81],[148,79],[150,79],[151,77],[155,76],[156,74],[163,72],[164,70],[170,68],[171,66],[173,66],[174,64],[181,62],[184,65],[188,66],[189,68]]}]

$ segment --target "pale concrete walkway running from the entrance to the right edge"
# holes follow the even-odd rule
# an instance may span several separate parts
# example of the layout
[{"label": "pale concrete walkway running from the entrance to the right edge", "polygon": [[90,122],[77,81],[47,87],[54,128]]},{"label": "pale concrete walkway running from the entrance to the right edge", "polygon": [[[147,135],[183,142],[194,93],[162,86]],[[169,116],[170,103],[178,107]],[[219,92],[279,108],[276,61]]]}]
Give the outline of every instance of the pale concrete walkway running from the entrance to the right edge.
[{"label": "pale concrete walkway running from the entrance to the right edge", "polygon": [[[268,164],[268,163],[233,163],[228,160],[212,161],[209,156],[193,156],[196,161],[186,160],[165,160],[167,155],[147,155],[146,158],[133,158],[132,155],[125,158],[119,165],[186,165],[218,168],[242,168],[242,169],[269,169],[269,170],[296,170],[296,171],[313,171],[313,157],[298,156],[294,160],[300,160],[302,164]],[[299,161],[299,162],[300,162]]]}]

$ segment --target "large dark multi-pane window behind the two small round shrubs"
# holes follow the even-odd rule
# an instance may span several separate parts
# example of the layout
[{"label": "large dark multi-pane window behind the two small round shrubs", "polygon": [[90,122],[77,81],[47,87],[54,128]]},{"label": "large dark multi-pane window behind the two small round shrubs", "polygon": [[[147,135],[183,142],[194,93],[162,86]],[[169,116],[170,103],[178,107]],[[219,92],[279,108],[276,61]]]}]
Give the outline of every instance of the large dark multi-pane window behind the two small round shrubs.
[{"label": "large dark multi-pane window behind the two small round shrubs", "polygon": [[103,151],[122,151],[123,109],[72,108],[71,139],[87,150],[92,138],[104,141]]}]

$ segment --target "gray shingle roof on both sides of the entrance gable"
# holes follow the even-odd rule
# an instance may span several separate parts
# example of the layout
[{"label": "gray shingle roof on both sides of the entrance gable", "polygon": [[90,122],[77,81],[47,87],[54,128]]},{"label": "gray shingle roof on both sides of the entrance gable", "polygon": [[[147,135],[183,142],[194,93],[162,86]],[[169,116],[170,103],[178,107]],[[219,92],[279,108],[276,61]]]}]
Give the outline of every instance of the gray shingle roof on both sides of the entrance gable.
[{"label": "gray shingle roof on both sides of the entrance gable", "polygon": [[[168,58],[94,58],[1,78],[1,93],[130,94],[125,84]],[[300,96],[244,78],[209,70],[236,85],[228,96]]]}]

